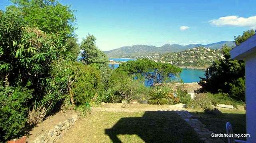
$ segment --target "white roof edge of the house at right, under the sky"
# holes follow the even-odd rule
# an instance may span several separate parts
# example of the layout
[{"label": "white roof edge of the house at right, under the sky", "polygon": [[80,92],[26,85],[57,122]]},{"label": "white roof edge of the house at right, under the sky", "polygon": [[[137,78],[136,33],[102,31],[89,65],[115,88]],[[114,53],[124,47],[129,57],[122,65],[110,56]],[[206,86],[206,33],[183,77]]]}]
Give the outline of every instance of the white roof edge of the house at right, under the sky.
[{"label": "white roof edge of the house at right, under the sky", "polygon": [[230,51],[231,59],[245,59],[256,52],[256,34],[242,42]]}]

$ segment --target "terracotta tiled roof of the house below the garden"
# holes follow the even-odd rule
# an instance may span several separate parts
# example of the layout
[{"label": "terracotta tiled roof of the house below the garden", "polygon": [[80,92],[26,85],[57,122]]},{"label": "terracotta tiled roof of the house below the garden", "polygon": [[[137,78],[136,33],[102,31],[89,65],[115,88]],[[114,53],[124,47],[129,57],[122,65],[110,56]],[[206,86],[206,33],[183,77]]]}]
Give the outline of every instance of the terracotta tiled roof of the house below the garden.
[{"label": "terracotta tiled roof of the house below the garden", "polygon": [[168,83],[165,84],[165,86],[169,86],[173,92],[176,92],[178,89],[181,89],[185,92],[195,92],[199,88],[202,88],[197,82],[192,82],[192,83]]}]

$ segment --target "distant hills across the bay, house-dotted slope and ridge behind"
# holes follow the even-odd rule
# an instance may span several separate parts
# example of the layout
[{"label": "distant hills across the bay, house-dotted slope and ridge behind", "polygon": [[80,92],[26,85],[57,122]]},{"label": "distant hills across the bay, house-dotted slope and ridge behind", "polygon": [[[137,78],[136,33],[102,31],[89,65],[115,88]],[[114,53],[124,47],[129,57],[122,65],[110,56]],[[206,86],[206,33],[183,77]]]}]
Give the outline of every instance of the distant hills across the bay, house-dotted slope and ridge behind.
[{"label": "distant hills across the bay, house-dotted slope and ridge behind", "polygon": [[178,44],[165,44],[161,47],[134,45],[104,52],[108,57],[146,58],[179,67],[206,69],[216,59],[224,58],[221,48],[225,44],[234,47],[233,41],[221,41],[207,45],[189,44],[186,46]]}]

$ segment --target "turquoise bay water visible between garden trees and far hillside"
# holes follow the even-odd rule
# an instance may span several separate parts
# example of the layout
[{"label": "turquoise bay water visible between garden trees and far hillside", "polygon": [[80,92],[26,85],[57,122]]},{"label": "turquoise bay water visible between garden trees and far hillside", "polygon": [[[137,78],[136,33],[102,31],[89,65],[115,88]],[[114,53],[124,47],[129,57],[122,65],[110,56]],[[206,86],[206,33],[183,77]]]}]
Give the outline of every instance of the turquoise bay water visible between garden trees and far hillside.
[{"label": "turquoise bay water visible between garden trees and far hillside", "polygon": [[[109,58],[113,59],[114,61],[130,61],[135,59],[123,59],[123,58]],[[109,67],[111,64],[109,64]],[[119,64],[114,64],[114,67],[117,68]],[[200,69],[182,69],[180,74],[180,78],[183,80],[184,83],[191,83],[191,82],[199,82],[200,77],[205,77],[205,70]],[[177,79],[180,79],[177,78]]]}]

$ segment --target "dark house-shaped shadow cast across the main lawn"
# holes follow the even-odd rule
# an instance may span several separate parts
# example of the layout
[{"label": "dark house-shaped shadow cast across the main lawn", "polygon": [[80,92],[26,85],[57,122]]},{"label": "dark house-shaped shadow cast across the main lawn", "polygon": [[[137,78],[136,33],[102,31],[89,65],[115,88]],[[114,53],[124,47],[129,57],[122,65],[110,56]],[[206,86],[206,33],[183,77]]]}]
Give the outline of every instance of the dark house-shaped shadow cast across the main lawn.
[{"label": "dark house-shaped shadow cast across the main lawn", "polygon": [[199,143],[193,128],[175,111],[146,111],[142,117],[121,118],[105,133],[113,143],[118,135],[138,135],[145,143]]}]

